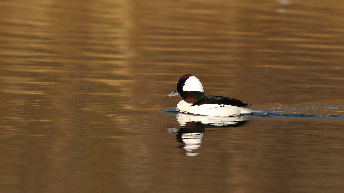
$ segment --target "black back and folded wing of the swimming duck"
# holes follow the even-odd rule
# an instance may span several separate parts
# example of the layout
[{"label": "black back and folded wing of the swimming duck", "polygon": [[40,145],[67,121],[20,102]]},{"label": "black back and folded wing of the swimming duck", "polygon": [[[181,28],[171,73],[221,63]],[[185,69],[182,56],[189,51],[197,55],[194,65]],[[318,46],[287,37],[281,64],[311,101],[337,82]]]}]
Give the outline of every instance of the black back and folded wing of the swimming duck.
[{"label": "black back and folded wing of the swimming duck", "polygon": [[252,104],[244,103],[237,99],[225,97],[225,96],[205,96],[204,99],[193,103],[191,106],[202,104],[227,104],[232,106],[253,106]]}]

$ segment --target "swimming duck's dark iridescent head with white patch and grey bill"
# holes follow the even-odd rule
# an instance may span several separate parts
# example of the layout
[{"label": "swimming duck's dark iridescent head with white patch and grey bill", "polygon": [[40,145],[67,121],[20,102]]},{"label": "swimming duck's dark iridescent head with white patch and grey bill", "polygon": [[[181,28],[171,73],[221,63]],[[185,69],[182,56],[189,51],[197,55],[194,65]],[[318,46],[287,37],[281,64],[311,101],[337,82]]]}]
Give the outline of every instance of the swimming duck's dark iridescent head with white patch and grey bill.
[{"label": "swimming duck's dark iridescent head with white patch and grey bill", "polygon": [[167,96],[176,95],[180,95],[188,103],[195,103],[205,97],[201,81],[190,74],[183,75],[177,83],[177,88]]}]

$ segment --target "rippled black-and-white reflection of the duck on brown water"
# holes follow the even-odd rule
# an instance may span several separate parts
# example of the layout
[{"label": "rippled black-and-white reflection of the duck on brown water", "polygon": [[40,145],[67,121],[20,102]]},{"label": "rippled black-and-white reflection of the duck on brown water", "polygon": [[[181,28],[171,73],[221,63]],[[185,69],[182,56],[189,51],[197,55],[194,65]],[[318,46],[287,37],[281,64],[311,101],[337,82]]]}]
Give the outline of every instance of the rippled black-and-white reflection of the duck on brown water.
[{"label": "rippled black-and-white reflection of the duck on brown water", "polygon": [[194,114],[176,114],[181,128],[169,127],[169,132],[175,134],[176,140],[181,143],[179,148],[186,150],[187,156],[197,156],[193,152],[201,147],[205,128],[237,127],[246,124],[249,120],[245,117],[214,117]]}]

